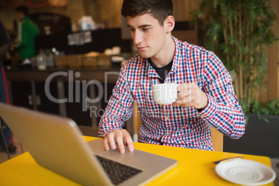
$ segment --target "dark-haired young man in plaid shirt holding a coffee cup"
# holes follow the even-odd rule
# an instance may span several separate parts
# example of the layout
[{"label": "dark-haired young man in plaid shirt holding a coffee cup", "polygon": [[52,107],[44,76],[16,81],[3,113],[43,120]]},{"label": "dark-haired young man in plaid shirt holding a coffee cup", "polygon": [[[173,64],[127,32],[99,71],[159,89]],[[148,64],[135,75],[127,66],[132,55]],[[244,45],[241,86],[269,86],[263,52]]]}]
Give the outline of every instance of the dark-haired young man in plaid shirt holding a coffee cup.
[{"label": "dark-haired young man in plaid shirt holding a coffee cup", "polygon": [[[124,0],[121,14],[140,53],[121,67],[119,79],[99,124],[105,149],[118,144],[133,151],[133,140],[121,125],[140,108],[140,142],[213,151],[210,126],[238,139],[245,117],[232,80],[211,51],[172,37],[171,0]],[[158,105],[151,85],[178,83],[178,101]]]}]

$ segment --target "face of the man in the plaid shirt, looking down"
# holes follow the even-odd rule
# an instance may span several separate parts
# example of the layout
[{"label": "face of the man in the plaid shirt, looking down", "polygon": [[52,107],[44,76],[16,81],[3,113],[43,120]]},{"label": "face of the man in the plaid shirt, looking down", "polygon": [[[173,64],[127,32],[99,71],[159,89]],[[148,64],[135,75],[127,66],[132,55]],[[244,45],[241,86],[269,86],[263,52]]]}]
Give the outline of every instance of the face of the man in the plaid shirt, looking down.
[{"label": "face of the man in the plaid shirt, looking down", "polygon": [[166,30],[151,14],[126,17],[135,47],[143,58],[160,55],[166,41]]}]

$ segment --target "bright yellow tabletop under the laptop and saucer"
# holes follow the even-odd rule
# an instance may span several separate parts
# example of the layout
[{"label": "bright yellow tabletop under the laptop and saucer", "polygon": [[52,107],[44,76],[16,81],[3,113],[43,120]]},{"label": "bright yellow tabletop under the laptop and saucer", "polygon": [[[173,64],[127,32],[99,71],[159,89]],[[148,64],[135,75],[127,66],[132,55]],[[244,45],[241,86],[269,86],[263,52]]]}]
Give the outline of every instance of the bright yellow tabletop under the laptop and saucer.
[{"label": "bright yellow tabletop under the laptop and saucer", "polygon": [[[91,141],[96,137],[85,137]],[[178,166],[153,180],[149,185],[236,185],[220,178],[213,161],[239,156],[236,153],[223,153],[183,149],[153,144],[135,143],[135,149],[148,151],[178,160]],[[267,157],[242,155],[244,159],[262,162],[271,167]],[[0,185],[78,185],[73,181],[38,165],[27,152],[0,164]],[[269,183],[268,185],[273,185]]]}]

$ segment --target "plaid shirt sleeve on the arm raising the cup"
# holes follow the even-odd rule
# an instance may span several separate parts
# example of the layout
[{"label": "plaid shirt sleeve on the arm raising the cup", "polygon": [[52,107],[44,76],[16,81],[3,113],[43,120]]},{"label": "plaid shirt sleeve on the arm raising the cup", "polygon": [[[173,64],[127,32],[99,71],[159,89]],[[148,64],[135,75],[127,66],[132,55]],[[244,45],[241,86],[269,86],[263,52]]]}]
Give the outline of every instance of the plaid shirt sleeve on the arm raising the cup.
[{"label": "plaid shirt sleeve on the arm raising the cup", "polygon": [[246,121],[230,74],[214,54],[207,60],[203,74],[208,105],[198,115],[219,132],[238,139],[244,135]]}]

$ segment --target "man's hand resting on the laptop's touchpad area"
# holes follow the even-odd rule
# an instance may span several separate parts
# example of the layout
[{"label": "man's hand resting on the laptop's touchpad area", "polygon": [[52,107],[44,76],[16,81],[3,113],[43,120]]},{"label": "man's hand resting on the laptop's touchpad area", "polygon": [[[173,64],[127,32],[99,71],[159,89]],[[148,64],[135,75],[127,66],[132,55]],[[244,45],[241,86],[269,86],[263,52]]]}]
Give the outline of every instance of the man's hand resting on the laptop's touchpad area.
[{"label": "man's hand resting on the laptop's touchpad area", "polygon": [[134,151],[135,147],[133,144],[132,137],[125,129],[117,129],[109,133],[103,140],[105,143],[105,150],[116,149],[118,144],[120,153],[125,153],[125,147],[128,146],[129,151]]}]

